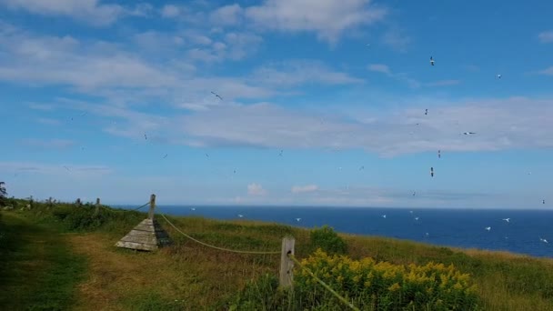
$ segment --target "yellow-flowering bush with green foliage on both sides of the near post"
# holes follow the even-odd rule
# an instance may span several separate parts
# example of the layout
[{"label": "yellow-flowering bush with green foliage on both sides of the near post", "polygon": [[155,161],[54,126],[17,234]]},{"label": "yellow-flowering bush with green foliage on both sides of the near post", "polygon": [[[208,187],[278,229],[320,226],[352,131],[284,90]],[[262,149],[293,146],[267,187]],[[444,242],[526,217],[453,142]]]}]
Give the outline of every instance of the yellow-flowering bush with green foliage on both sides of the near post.
[{"label": "yellow-flowering bush with green foliage on both sides of the near post", "polygon": [[[470,276],[455,266],[392,265],[372,258],[360,261],[328,256],[321,249],[302,266],[360,310],[479,310]],[[294,286],[278,287],[277,276],[250,281],[230,304],[230,310],[348,310],[305,269],[295,266]]]}]

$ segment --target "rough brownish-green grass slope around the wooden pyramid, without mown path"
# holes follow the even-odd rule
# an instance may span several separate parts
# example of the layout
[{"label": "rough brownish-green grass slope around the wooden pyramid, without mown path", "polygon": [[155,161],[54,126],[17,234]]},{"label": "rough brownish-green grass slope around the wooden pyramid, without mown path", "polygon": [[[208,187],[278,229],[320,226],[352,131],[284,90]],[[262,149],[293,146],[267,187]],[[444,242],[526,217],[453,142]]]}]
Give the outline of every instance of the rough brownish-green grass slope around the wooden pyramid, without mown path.
[{"label": "rough brownish-green grass slope around the wooden pyramid, without mown path", "polygon": [[[175,246],[156,253],[115,247],[116,241],[144,217],[145,214],[125,213],[94,232],[70,237],[75,254],[86,256],[89,262],[88,277],[79,286],[76,309],[225,309],[227,300],[247,280],[267,272],[278,273],[278,255],[241,255],[207,248],[187,240],[159,216],[157,219],[174,238]],[[296,237],[298,257],[312,251],[308,231],[300,228],[194,217],[169,219],[186,234],[216,246],[276,251],[281,237],[292,235]],[[380,237],[343,237],[353,258],[373,256],[396,264],[453,263],[473,276],[486,309],[553,309],[551,259],[462,251]]]}]

